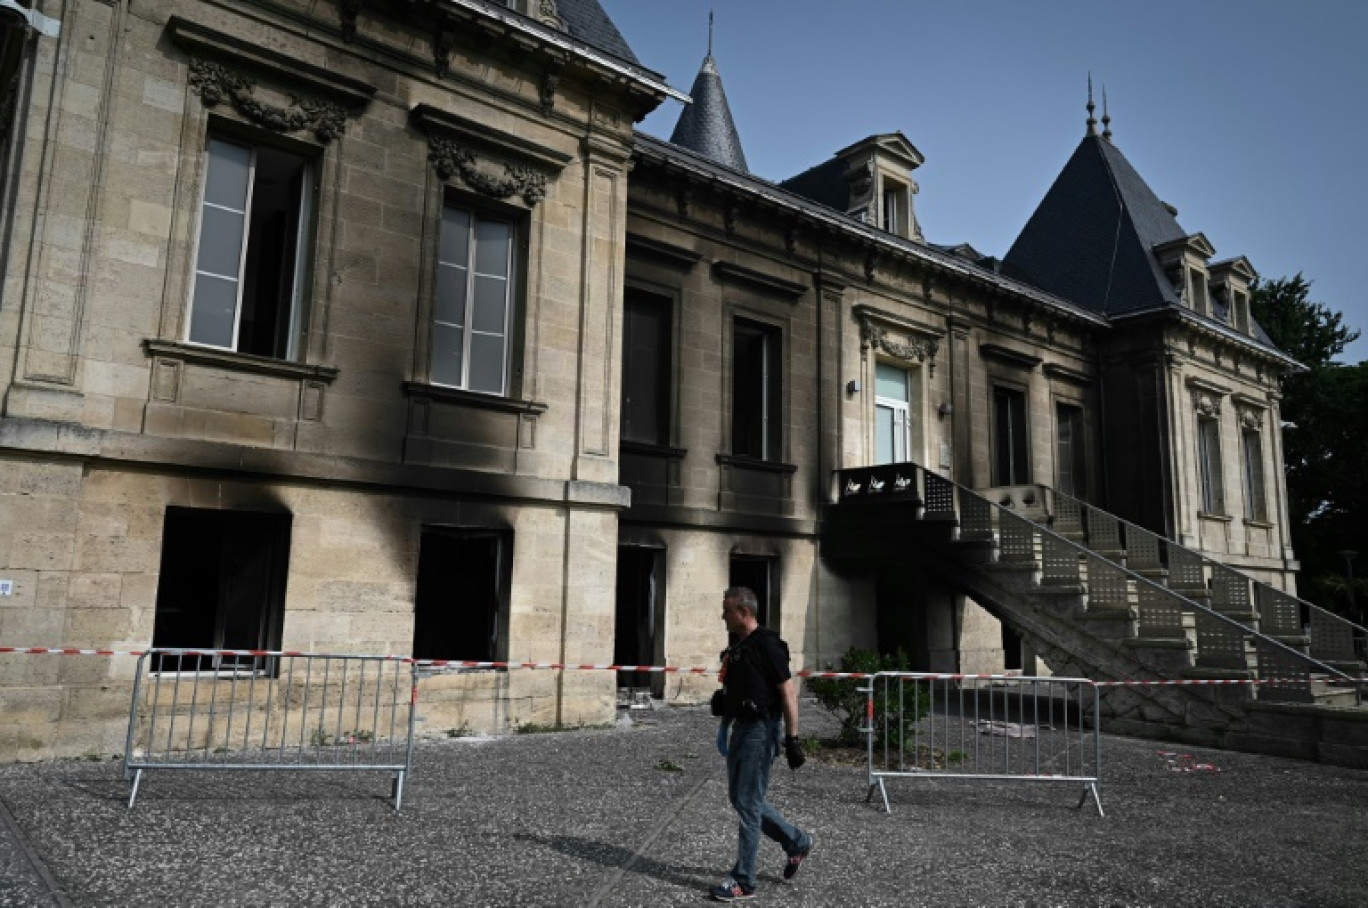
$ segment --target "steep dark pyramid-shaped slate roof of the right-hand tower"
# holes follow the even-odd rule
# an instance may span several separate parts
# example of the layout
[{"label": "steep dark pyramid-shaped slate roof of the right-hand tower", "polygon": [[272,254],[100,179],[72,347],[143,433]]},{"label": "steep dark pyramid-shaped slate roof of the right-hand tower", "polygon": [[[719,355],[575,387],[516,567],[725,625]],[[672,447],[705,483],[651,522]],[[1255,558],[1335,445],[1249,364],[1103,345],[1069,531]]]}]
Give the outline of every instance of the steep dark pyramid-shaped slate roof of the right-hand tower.
[{"label": "steep dark pyramid-shaped slate roof of the right-hand tower", "polygon": [[1111,141],[1085,135],[1003,267],[1107,316],[1179,306],[1152,250],[1186,235]]}]

